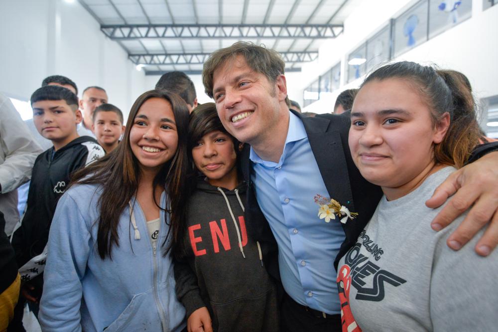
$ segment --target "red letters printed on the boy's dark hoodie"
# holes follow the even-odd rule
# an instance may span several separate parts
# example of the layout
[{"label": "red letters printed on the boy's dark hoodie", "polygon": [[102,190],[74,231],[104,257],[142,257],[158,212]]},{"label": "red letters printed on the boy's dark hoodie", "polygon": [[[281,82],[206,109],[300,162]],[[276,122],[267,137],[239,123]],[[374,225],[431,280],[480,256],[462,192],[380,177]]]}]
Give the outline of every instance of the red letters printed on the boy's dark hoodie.
[{"label": "red letters printed on the boy's dark hoodie", "polygon": [[[219,253],[220,248],[223,248],[225,251],[229,251],[234,245],[236,248],[239,247],[239,243],[234,245],[230,243],[226,219],[221,219],[219,223],[217,221],[211,221],[209,222],[209,226],[204,225],[204,227],[209,227],[211,241],[209,241],[210,239],[203,239],[202,236],[196,235],[196,231],[199,232],[201,229],[201,224],[195,224],[189,226],[188,228],[190,244],[192,245],[192,250],[196,256],[206,255],[207,250],[211,251],[211,246],[214,253]],[[248,234],[246,231],[246,221],[243,216],[239,216],[239,228],[241,232],[242,246],[245,247],[248,243]]]}]

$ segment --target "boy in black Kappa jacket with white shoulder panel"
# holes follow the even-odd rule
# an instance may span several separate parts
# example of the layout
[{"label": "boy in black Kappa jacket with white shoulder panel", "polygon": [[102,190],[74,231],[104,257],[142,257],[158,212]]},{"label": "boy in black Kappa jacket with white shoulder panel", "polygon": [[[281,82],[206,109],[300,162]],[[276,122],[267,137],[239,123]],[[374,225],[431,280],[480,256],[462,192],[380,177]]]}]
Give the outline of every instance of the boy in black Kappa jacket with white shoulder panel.
[{"label": "boy in black Kappa jacket with white shoulder panel", "polygon": [[36,129],[53,147],[36,158],[26,213],[12,238],[22,282],[20,305],[24,304],[22,298],[39,303],[48,232],[71,174],[104,156],[95,139],[78,135],[82,116],[73,92],[55,85],[41,87],[31,95],[31,107]]}]

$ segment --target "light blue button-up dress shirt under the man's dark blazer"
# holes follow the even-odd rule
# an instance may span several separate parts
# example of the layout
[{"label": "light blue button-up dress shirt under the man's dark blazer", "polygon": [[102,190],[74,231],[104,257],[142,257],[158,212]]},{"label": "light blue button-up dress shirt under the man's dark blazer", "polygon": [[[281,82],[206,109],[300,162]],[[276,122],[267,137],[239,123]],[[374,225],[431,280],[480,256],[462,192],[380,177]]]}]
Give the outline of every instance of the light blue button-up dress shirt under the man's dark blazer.
[{"label": "light blue button-up dress shirt under the man's dark blazer", "polygon": [[[316,194],[328,193],[301,120],[291,112],[278,163],[250,149],[256,199],[278,244],[280,277],[294,301],[327,314],[340,314],[334,259],[344,241],[338,219],[318,217]],[[327,153],[324,151],[323,153]]]}]

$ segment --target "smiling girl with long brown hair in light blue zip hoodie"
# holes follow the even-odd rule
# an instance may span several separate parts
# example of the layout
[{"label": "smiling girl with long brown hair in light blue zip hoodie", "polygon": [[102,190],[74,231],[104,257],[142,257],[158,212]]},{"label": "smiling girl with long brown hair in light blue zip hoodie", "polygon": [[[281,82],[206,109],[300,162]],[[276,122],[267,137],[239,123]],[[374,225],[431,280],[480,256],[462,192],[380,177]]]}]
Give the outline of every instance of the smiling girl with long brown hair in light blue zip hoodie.
[{"label": "smiling girl with long brown hair in light blue zip hoodie", "polygon": [[119,147],[75,174],[50,229],[43,330],[185,327],[169,225],[185,213],[188,115],[178,96],[145,92]]}]

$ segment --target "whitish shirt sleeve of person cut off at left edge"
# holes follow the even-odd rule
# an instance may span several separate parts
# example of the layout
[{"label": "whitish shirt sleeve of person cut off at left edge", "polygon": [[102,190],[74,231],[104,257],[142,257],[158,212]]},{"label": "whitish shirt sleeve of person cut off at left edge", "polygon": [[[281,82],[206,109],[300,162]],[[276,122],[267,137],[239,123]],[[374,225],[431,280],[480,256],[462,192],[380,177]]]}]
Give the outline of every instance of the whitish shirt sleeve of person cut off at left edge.
[{"label": "whitish shirt sleeve of person cut off at left edge", "polygon": [[8,98],[0,95],[0,184],[9,192],[31,178],[41,148]]}]

